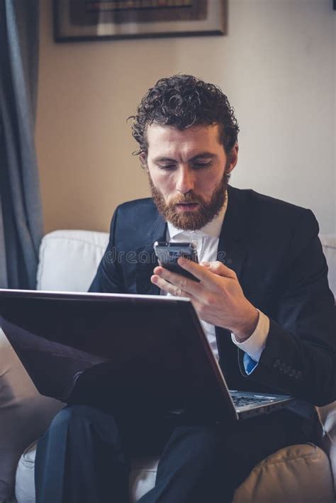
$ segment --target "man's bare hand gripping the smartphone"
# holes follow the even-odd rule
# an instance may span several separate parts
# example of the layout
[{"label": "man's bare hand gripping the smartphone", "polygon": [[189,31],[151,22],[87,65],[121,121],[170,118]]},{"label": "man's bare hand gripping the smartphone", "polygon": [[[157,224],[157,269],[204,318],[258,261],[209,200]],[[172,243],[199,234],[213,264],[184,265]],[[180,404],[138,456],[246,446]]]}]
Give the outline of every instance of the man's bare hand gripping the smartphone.
[{"label": "man's bare hand gripping the smartphone", "polygon": [[228,328],[238,342],[246,341],[257,326],[259,311],[245,297],[235,271],[218,261],[196,264],[179,258],[178,262],[200,282],[158,266],[152,283],[176,297],[189,297],[203,321]]}]

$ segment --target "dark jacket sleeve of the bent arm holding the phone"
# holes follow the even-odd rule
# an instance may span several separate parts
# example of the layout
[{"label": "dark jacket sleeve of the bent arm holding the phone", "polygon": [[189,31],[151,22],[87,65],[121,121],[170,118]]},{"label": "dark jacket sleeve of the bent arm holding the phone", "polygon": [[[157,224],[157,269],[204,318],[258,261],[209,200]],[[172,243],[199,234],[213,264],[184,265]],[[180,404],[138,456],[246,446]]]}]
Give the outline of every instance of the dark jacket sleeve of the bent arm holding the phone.
[{"label": "dark jacket sleeve of the bent arm holding the phone", "polygon": [[[318,222],[303,210],[266,346],[250,378],[323,406],[336,399],[336,311]],[[243,375],[244,353],[239,363]]]}]

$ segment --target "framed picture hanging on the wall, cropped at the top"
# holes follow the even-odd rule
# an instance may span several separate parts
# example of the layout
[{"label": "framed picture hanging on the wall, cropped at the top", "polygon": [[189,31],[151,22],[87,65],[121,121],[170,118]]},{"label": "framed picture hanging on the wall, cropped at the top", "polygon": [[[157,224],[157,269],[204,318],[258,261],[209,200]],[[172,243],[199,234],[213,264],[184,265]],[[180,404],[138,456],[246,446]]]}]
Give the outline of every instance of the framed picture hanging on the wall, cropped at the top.
[{"label": "framed picture hanging on the wall, cropped at the top", "polygon": [[56,42],[224,35],[227,0],[54,0]]}]

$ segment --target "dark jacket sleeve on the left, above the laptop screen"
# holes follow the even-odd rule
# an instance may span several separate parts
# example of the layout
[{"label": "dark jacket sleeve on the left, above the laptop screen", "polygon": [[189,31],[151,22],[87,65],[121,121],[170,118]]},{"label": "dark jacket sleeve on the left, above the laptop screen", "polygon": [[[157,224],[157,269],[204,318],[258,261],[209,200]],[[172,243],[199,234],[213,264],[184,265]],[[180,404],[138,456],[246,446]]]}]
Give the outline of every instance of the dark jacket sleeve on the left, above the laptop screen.
[{"label": "dark jacket sleeve on the left, above the laptop screen", "polygon": [[103,258],[99,264],[89,292],[124,293],[123,272],[116,247],[116,228],[118,226],[118,208],[113,214],[110,228],[110,239]]}]

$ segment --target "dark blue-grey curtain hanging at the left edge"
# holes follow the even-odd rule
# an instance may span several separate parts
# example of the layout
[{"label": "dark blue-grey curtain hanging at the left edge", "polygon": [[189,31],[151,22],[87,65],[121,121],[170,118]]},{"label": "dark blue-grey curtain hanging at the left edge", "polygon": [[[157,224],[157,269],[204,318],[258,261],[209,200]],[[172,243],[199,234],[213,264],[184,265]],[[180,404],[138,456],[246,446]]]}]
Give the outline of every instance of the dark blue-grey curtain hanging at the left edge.
[{"label": "dark blue-grey curtain hanging at the left edge", "polygon": [[34,129],[39,0],[0,0],[0,287],[35,289],[43,217]]}]

